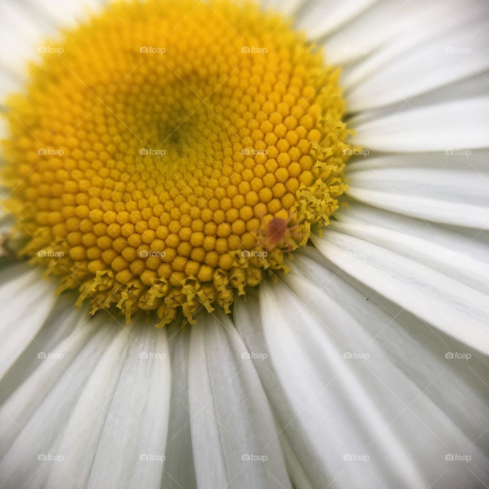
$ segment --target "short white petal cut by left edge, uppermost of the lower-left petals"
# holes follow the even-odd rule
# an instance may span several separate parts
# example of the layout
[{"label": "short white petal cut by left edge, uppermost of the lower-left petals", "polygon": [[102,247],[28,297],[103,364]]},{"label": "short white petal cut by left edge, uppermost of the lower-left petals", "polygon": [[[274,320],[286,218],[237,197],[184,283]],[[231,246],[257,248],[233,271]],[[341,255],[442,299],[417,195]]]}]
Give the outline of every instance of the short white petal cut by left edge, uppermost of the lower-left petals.
[{"label": "short white petal cut by left edge, uppermost of the lower-left petals", "polygon": [[56,303],[55,287],[38,269],[15,265],[0,274],[0,378],[34,340]]}]

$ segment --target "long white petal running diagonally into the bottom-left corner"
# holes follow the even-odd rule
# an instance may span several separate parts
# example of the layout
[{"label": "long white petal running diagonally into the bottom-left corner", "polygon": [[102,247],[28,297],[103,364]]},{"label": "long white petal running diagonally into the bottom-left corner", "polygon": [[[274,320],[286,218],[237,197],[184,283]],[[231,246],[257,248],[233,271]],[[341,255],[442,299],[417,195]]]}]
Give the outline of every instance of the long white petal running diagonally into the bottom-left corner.
[{"label": "long white petal running diagonally into the bottom-left corner", "polygon": [[73,334],[50,351],[53,356],[46,358],[4,404],[0,437],[6,455],[0,473],[7,485],[21,486],[31,480],[35,487],[31,479],[35,474],[45,482],[55,462],[38,461],[38,456],[61,455],[57,446],[63,427],[117,331],[105,322],[103,315],[90,321],[79,317]]}]

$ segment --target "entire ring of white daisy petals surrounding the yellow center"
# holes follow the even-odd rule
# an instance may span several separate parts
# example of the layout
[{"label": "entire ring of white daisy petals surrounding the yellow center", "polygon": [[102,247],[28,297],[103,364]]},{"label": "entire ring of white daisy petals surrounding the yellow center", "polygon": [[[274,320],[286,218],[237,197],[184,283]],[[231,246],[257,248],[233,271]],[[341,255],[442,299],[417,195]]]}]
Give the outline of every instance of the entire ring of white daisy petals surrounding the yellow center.
[{"label": "entire ring of white daisy petals surrounding the yellow center", "polygon": [[[2,0],[2,99],[103,3]],[[0,487],[489,486],[489,3],[264,4],[343,68],[349,206],[184,330],[89,318],[3,259]]]}]

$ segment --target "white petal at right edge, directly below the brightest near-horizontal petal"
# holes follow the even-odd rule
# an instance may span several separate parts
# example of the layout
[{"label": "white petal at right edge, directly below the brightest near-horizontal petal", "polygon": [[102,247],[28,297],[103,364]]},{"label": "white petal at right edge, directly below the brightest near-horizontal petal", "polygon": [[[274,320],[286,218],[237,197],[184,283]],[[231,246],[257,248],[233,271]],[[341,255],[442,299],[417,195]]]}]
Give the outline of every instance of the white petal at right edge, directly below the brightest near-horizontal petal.
[{"label": "white petal at right edge, directly below the brightest near-horizontal petal", "polygon": [[363,158],[347,170],[348,195],[428,221],[482,229],[489,217],[488,151]]}]

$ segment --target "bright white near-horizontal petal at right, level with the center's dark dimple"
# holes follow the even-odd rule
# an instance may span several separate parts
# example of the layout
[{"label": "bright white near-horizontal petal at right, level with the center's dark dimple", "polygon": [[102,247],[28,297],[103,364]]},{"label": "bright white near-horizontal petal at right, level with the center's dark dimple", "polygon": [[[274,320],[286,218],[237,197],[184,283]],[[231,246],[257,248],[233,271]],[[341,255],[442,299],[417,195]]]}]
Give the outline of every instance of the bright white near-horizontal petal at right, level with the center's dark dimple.
[{"label": "bright white near-horizontal petal at right, level with the center's dark dimple", "polygon": [[375,151],[446,151],[487,148],[489,97],[431,105],[355,124],[352,144]]}]

